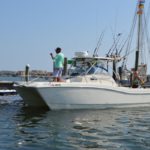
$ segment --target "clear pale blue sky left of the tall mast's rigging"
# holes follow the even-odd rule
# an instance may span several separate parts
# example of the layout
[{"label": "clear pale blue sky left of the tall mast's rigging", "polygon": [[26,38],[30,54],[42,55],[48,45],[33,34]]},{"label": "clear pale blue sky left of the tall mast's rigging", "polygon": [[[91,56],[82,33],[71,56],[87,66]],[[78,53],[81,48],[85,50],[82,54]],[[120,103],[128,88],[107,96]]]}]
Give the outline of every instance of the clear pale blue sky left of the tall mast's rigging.
[{"label": "clear pale blue sky left of the tall mast's rigging", "polygon": [[[147,0],[149,1],[149,0]],[[52,70],[49,53],[105,55],[113,35],[130,31],[137,0],[0,0],[0,70]]]}]

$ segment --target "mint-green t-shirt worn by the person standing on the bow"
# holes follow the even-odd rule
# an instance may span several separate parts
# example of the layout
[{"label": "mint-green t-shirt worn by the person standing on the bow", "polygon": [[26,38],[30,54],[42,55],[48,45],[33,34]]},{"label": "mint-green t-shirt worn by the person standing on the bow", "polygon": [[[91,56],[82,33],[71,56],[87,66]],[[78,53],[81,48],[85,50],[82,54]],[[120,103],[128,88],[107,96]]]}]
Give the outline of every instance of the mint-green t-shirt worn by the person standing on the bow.
[{"label": "mint-green t-shirt worn by the person standing on the bow", "polygon": [[64,54],[59,53],[54,58],[54,67],[55,68],[63,68],[64,65]]}]

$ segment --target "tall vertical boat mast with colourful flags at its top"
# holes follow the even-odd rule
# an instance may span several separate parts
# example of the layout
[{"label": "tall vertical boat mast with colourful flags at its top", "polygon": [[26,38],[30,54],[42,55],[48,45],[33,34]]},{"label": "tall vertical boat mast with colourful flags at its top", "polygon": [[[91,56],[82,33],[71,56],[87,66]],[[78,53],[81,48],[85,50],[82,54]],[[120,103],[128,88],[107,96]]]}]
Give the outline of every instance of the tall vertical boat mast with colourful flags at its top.
[{"label": "tall vertical boat mast with colourful flags at its top", "polygon": [[143,16],[143,10],[144,10],[144,3],[145,0],[139,0],[138,1],[138,39],[137,39],[137,50],[135,53],[135,71],[138,70],[139,65],[139,53],[141,51],[141,40],[142,40],[142,16]]}]

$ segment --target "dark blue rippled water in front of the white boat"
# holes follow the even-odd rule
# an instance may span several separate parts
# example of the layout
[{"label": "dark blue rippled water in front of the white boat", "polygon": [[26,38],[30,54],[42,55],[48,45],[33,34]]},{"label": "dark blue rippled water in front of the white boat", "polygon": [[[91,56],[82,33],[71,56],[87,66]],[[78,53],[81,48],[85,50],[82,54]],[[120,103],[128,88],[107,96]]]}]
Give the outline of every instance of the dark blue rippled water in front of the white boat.
[{"label": "dark blue rippled water in front of the white boat", "polygon": [[0,97],[0,150],[150,150],[150,108],[47,111]]}]

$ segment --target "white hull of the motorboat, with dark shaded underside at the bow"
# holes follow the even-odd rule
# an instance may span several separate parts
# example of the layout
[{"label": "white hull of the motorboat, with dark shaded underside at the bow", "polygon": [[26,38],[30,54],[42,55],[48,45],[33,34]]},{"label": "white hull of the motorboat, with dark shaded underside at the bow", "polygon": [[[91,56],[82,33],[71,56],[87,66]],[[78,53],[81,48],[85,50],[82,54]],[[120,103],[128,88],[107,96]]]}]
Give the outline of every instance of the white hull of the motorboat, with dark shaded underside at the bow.
[{"label": "white hull of the motorboat, with dark shaded underside at the bow", "polygon": [[102,109],[150,105],[150,89],[80,85],[17,86],[25,103],[56,109]]}]

